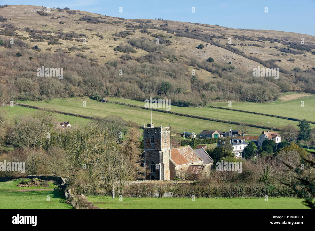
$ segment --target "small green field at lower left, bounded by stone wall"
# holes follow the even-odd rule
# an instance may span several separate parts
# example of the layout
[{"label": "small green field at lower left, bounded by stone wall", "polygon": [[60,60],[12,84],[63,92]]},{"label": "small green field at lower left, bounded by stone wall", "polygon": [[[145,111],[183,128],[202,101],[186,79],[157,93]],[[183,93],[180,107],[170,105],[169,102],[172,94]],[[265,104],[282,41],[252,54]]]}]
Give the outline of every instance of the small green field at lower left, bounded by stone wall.
[{"label": "small green field at lower left, bounded by stone wall", "polygon": [[[48,182],[48,187],[17,187],[18,180],[0,182],[0,209],[73,209],[65,203],[62,190],[36,191],[38,189],[54,189],[56,185]],[[8,191],[31,190],[31,191]],[[47,201],[49,196],[49,201]]]}]

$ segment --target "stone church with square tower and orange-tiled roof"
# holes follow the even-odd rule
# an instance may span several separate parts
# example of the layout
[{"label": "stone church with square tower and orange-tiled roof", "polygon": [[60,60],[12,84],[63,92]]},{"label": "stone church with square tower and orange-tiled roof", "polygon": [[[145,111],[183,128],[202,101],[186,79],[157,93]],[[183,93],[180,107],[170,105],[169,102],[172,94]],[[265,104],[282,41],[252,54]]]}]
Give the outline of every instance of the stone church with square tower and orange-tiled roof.
[{"label": "stone church with square tower and orange-tiled roof", "polygon": [[171,126],[154,127],[143,124],[143,156],[146,169],[150,169],[146,180],[194,180],[207,177],[213,168],[213,160],[203,149],[185,146],[171,148]]}]

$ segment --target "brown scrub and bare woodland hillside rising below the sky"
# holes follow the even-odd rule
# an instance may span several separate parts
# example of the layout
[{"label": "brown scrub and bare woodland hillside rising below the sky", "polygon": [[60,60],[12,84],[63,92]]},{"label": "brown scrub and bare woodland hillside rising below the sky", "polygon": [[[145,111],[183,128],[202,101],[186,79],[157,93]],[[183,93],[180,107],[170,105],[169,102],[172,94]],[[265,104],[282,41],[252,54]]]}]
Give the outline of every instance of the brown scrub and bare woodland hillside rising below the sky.
[{"label": "brown scrub and bare woodland hillside rising below the sky", "polygon": [[[117,96],[201,106],[315,93],[310,35],[27,5],[1,7],[0,15],[0,88],[8,101]],[[42,66],[63,68],[63,79],[37,77]],[[258,66],[279,68],[280,77],[253,77]]]}]

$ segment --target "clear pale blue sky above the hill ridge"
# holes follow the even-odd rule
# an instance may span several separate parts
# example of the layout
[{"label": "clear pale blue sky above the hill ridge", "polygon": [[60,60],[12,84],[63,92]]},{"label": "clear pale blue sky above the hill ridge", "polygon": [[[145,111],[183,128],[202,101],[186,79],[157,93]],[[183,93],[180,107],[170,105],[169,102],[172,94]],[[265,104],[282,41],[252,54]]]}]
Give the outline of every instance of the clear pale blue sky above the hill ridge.
[{"label": "clear pale blue sky above the hill ridge", "polygon": [[[315,36],[315,0],[10,0],[0,5],[37,5],[83,10],[125,19],[154,19],[219,24],[232,28],[281,30]],[[123,13],[119,13],[123,7]],[[192,7],[196,13],[192,13]],[[268,7],[268,13],[265,13]]]}]

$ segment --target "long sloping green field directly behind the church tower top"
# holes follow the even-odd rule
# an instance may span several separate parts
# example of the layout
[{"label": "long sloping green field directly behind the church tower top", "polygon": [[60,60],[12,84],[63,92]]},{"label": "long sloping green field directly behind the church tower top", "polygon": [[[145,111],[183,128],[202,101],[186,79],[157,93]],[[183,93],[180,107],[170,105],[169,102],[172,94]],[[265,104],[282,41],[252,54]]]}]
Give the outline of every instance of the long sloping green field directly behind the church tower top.
[{"label": "long sloping green field directly behind the church tower top", "polygon": [[[86,107],[83,107],[83,101],[86,101]],[[116,115],[121,116],[126,121],[134,121],[140,126],[143,126],[143,123],[147,124],[151,122],[150,110],[118,105],[114,103],[102,103],[88,98],[53,99],[50,103],[44,101],[21,101],[21,103],[87,116],[106,117],[108,115]],[[195,132],[196,134],[205,129],[221,129],[222,131],[227,131],[228,126],[231,126],[231,124],[228,123],[207,121],[197,118],[152,111],[152,122],[155,124],[155,126],[159,126],[161,121],[165,121],[163,122],[162,126],[168,126],[168,123],[170,122],[172,130],[177,132],[183,132],[185,128],[186,131]],[[72,125],[74,124],[72,123]],[[251,128],[250,133],[260,134],[261,129],[253,127]]]}]

